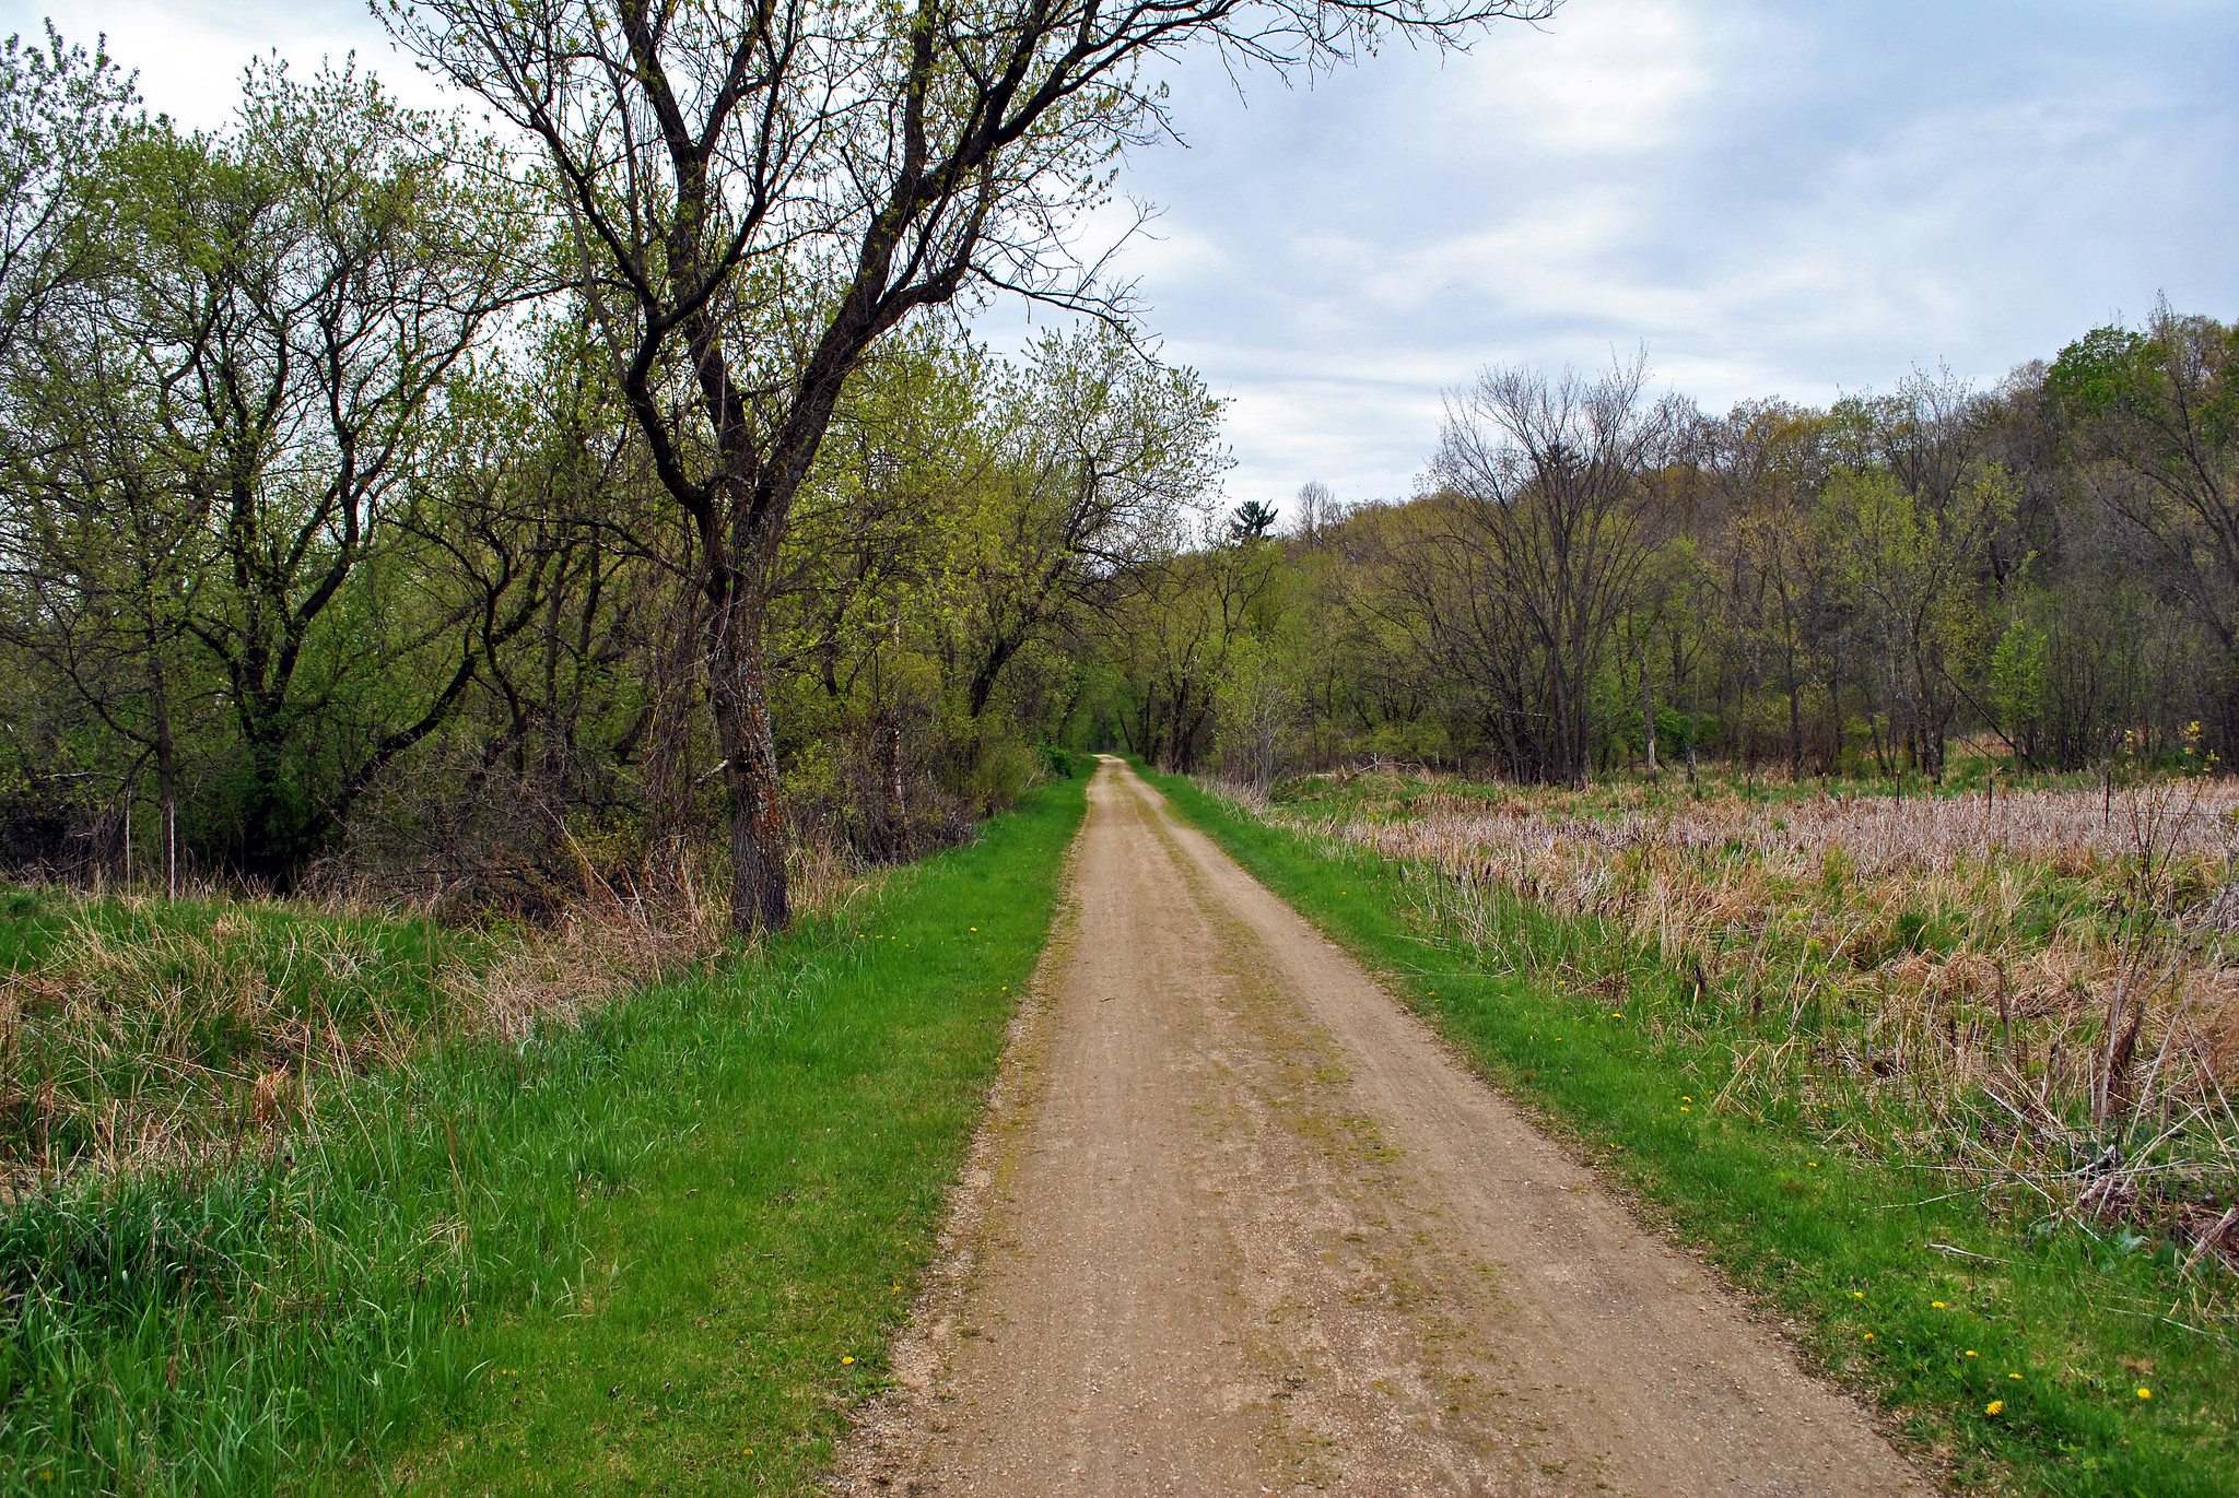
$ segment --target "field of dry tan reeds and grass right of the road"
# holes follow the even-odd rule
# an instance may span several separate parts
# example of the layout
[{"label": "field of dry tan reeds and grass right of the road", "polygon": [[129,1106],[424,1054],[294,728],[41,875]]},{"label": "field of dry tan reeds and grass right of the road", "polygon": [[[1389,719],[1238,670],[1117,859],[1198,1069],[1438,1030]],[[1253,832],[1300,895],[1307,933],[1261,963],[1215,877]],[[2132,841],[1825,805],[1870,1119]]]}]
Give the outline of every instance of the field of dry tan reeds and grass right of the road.
[{"label": "field of dry tan reeds and grass right of the road", "polygon": [[1428,929],[1628,1012],[1715,1108],[2239,1265],[2239,781],[1767,802],[1361,777],[1254,808],[1404,860]]}]

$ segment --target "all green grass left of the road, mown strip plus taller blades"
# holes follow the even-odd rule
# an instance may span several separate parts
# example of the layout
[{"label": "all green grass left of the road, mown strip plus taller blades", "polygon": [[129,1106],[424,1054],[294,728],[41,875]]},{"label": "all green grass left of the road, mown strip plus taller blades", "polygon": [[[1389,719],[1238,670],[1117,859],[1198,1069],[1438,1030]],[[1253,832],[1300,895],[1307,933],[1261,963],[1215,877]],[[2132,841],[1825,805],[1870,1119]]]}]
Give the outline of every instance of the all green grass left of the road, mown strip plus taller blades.
[{"label": "all green grass left of the road, mown strip plus taller blades", "polygon": [[336,1084],[278,1149],[18,1196],[0,1494],[799,1491],[934,1247],[1081,790],[575,1026]]}]

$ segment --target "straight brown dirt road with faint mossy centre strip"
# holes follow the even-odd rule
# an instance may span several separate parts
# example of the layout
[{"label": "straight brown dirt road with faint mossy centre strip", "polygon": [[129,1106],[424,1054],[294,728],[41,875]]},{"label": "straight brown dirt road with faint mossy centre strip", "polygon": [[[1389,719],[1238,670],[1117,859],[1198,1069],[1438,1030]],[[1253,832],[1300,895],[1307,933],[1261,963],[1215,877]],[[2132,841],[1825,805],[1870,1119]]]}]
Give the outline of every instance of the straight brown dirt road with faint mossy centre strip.
[{"label": "straight brown dirt road with faint mossy centre strip", "polygon": [[846,1494],[1926,1494],[1106,759]]}]

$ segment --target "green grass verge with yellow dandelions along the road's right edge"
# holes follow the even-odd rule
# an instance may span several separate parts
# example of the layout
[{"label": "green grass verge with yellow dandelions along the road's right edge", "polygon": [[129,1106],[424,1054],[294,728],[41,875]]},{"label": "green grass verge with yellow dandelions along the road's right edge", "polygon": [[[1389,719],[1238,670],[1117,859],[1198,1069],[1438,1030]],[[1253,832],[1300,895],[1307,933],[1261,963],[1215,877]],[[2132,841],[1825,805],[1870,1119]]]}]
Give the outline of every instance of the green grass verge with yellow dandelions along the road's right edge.
[{"label": "green grass verge with yellow dandelions along the road's right edge", "polygon": [[[1713,1111],[1697,1079],[1733,1057],[1684,1055],[1639,1023],[1641,1005],[1681,1001],[1677,974],[1643,974],[1621,1014],[1493,972],[1422,918],[1402,864],[1261,824],[1184,777],[1151,779],[1679,1236],[1802,1321],[1807,1352],[1872,1391],[1955,1487],[2239,1491],[2239,1359],[2165,1321],[2172,1270],[2080,1234],[1997,1229],[1970,1200],[1923,1200],[1934,1180],[1827,1151],[1793,1115]],[[1556,925],[1543,923],[1547,940]]]}]

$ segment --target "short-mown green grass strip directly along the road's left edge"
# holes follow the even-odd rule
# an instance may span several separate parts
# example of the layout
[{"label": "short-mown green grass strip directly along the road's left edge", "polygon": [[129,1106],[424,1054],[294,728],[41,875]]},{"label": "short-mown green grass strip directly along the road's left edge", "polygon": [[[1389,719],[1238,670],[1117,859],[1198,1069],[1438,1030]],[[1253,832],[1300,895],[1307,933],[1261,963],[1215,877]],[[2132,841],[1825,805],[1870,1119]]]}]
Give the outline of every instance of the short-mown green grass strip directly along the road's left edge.
[{"label": "short-mown green grass strip directly along the road's left edge", "polygon": [[1084,788],[795,931],[730,1003],[629,1001],[611,1086],[674,1142],[582,1202],[558,1294],[488,1319],[455,1408],[365,1487],[806,1489],[934,1252]]}]

